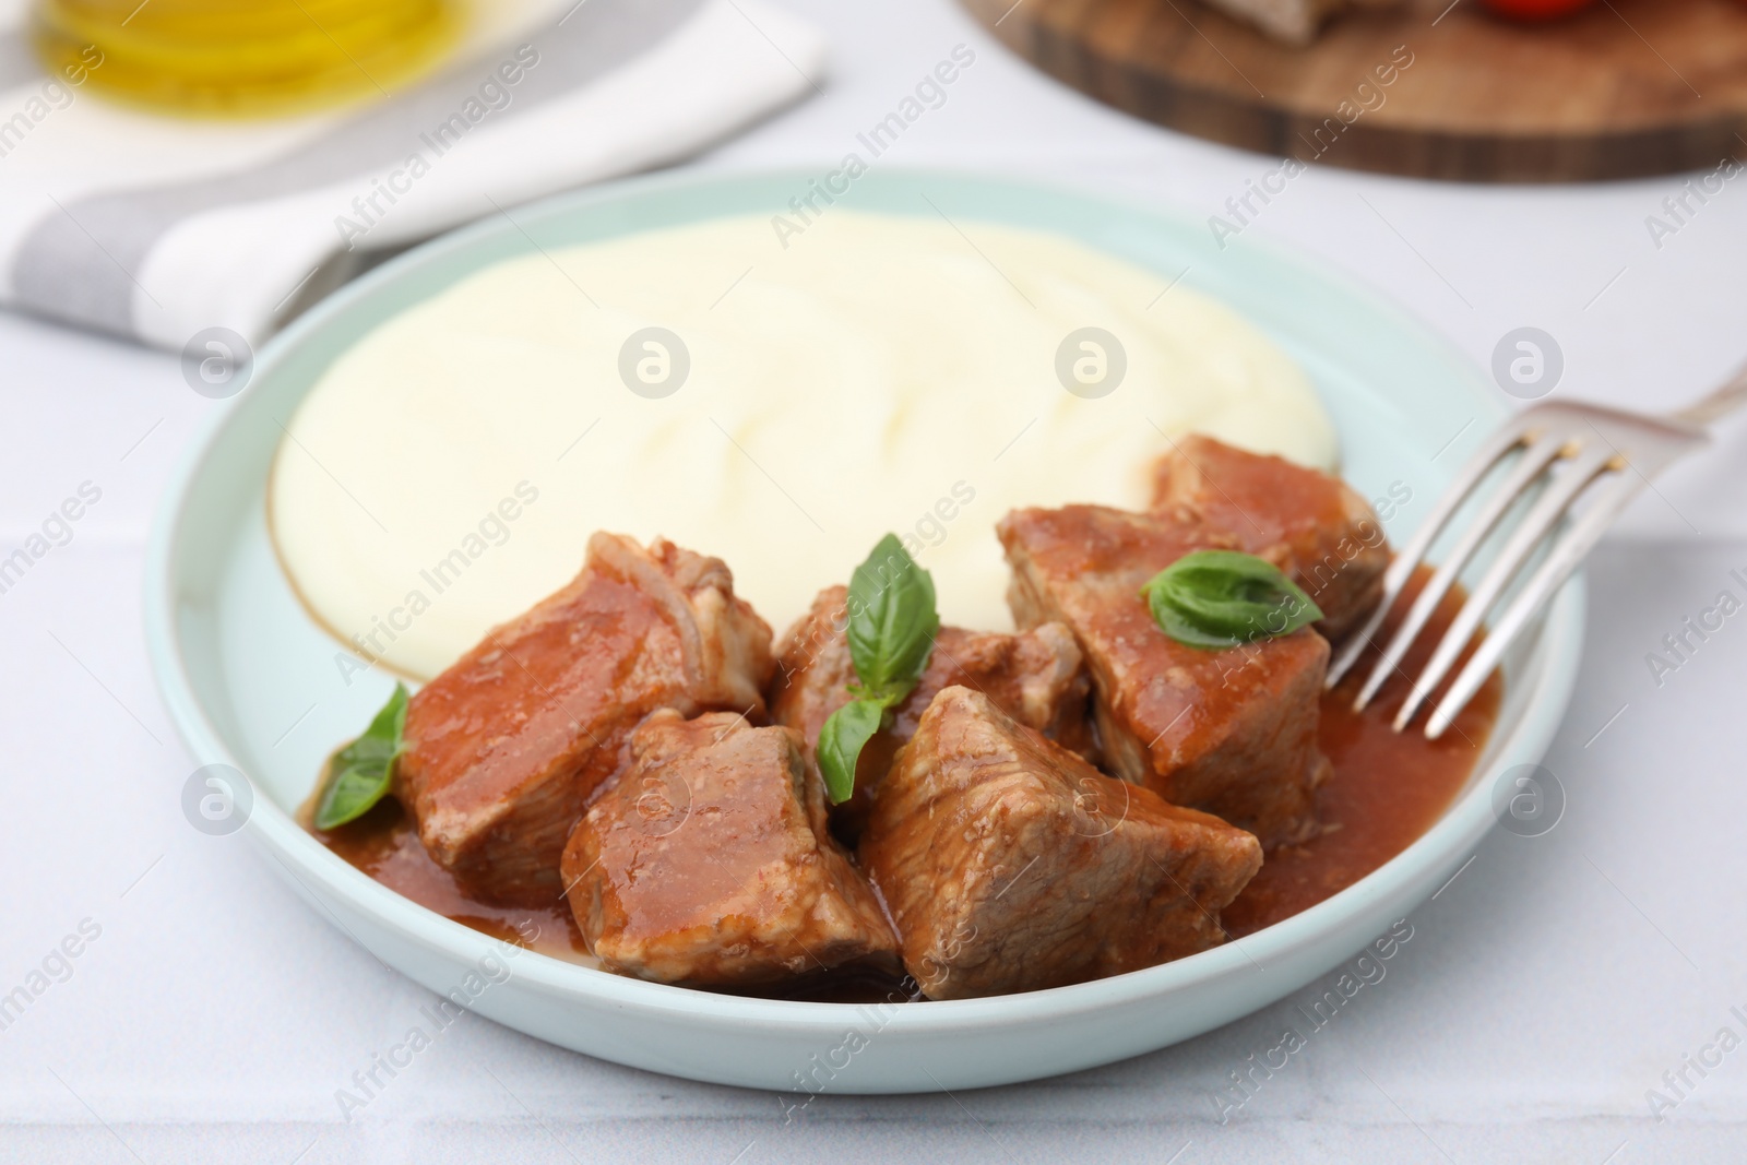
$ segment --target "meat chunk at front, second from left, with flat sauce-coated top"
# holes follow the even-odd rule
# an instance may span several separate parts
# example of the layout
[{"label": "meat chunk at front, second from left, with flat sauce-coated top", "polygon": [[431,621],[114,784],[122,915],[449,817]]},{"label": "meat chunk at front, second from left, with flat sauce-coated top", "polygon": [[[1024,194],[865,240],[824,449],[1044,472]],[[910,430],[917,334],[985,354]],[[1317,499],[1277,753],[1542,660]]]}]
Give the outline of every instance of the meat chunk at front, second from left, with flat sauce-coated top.
[{"label": "meat chunk at front, second from left, with flat sauce-coated top", "polygon": [[858,961],[896,971],[891,926],[825,828],[825,782],[798,732],[660,711],[631,756],[564,847],[570,906],[608,968],[708,987]]}]

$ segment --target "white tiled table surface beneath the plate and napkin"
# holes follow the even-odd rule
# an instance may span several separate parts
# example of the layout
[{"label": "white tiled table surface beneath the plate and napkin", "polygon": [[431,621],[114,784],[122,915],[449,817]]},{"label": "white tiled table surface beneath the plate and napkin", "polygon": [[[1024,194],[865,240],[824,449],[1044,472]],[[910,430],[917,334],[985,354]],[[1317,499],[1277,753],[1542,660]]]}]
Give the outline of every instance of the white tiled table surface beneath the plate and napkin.
[{"label": "white tiled table surface beneath the plate and napkin", "polygon": [[[788,0],[825,24],[825,94],[695,162],[828,168],[964,42],[977,63],[879,164],[1038,175],[1212,215],[1277,162],[1155,129],[1032,73],[947,0]],[[1485,365],[1553,334],[1560,395],[1668,407],[1747,356],[1747,183],[1658,250],[1675,178],[1460,187],[1315,168],[1286,239]],[[1387,980],[1228,1123],[1212,1093],[1293,999],[1193,1043],[1038,1085],[779,1100],[559,1051],[468,1017],[342,1123],[334,1099],[428,1001],[239,838],[189,828],[192,769],[147,669],[143,545],[196,424],[173,358],[0,314],[0,550],[101,487],[0,596],[0,992],[91,919],[72,976],[0,1032],[0,1156],[89,1162],[1738,1162],[1747,1050],[1656,1121],[1646,1090],[1747,1036],[1747,617],[1656,686],[1644,655],[1747,573],[1747,430],[1647,494],[1590,571],[1588,664],[1541,838],[1494,835]],[[1623,713],[1619,709],[1625,709]],[[1618,720],[1609,725],[1616,713]],[[1607,725],[1599,739],[1595,734]],[[89,924],[87,924],[89,929]],[[1314,997],[1321,987],[1302,992]],[[302,1155],[299,1158],[299,1155]]]}]

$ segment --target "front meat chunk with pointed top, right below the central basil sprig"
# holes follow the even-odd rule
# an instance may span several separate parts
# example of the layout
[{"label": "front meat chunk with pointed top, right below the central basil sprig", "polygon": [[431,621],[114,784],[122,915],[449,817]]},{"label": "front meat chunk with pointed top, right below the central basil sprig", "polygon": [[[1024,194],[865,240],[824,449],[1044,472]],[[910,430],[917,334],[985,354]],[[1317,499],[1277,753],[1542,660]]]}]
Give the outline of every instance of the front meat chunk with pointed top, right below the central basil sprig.
[{"label": "front meat chunk with pointed top, right below the central basil sprig", "polygon": [[861,856],[931,999],[1039,990],[1225,941],[1261,866],[1242,830],[1113,781],[945,688],[874,796]]}]

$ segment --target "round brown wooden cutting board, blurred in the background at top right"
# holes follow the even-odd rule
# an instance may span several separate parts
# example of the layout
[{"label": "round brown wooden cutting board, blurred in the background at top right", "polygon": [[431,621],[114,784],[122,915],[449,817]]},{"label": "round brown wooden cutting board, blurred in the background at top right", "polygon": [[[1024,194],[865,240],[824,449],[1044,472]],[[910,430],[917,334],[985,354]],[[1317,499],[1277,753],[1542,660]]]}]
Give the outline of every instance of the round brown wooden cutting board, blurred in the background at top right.
[{"label": "round brown wooden cutting board, blurred in the background at top right", "polygon": [[1747,157],[1742,0],[1604,0],[1537,26],[1413,0],[1343,16],[1307,49],[1197,0],[963,2],[1099,101],[1275,157],[1469,182]]}]

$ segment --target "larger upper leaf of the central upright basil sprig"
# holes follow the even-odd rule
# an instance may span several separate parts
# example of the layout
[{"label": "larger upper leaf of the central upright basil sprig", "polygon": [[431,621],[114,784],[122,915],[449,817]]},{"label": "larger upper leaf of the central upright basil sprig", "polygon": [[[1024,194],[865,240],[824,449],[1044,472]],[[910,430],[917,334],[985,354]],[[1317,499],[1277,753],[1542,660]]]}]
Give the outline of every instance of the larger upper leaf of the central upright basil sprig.
[{"label": "larger upper leaf of the central upright basil sprig", "polygon": [[938,631],[935,580],[886,534],[849,576],[849,658],[861,686],[907,693],[928,669]]}]

